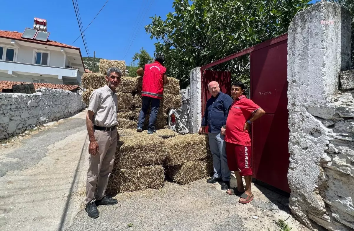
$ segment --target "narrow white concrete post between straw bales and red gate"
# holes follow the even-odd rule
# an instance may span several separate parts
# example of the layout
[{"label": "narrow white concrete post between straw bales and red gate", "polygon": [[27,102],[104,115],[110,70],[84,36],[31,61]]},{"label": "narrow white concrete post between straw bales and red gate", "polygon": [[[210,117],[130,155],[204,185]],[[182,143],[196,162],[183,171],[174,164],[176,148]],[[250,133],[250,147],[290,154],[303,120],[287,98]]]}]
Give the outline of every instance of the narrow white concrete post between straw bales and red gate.
[{"label": "narrow white concrete post between straw bales and red gate", "polygon": [[201,72],[200,67],[190,71],[189,133],[198,133],[201,125]]}]

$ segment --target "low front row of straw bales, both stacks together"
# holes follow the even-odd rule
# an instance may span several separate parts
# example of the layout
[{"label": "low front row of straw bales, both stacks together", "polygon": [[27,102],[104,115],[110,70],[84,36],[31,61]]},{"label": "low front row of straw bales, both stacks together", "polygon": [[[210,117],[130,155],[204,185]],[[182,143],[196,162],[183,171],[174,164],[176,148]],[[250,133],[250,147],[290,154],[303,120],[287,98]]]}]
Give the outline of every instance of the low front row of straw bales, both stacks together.
[{"label": "low front row of straw bales, both stacks together", "polygon": [[132,129],[118,132],[120,141],[108,195],[159,189],[164,186],[165,174],[184,185],[213,172],[207,136],[180,135],[170,129],[160,129],[153,135]]}]

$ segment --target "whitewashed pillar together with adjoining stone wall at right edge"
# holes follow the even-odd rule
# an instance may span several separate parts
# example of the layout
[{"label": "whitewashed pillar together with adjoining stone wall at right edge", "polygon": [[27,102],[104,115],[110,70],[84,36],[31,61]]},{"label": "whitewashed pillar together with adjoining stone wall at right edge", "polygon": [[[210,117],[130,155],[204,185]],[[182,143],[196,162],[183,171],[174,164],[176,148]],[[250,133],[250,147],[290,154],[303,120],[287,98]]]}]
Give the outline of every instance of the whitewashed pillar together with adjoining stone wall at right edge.
[{"label": "whitewashed pillar together with adjoining stone wall at right edge", "polygon": [[[322,20],[333,24],[321,24]],[[311,227],[354,229],[353,91],[338,91],[350,67],[350,15],[321,1],[288,32],[289,206]]]}]

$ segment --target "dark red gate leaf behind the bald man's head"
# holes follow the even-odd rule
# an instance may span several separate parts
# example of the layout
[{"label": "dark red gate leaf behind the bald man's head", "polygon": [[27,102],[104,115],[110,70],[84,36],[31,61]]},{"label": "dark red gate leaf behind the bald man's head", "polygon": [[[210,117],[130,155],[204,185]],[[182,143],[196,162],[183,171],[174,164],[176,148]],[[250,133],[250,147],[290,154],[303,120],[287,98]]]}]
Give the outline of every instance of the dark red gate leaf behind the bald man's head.
[{"label": "dark red gate leaf behind the bald man's head", "polygon": [[[231,72],[204,70],[202,75],[202,116],[204,116],[206,101],[211,97],[208,84],[211,81],[217,81],[221,92],[231,94]],[[206,128],[208,131],[208,128]]]}]

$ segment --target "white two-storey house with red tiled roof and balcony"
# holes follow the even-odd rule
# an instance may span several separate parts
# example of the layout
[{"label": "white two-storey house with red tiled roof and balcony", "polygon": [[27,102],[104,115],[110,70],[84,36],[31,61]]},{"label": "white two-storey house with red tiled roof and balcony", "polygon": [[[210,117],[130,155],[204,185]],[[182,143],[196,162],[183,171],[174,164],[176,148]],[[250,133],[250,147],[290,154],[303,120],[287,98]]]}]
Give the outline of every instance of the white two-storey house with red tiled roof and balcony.
[{"label": "white two-storey house with red tiled roof and balcony", "polygon": [[46,36],[42,40],[23,37],[23,33],[0,30],[0,81],[81,83],[85,67],[79,47]]}]

